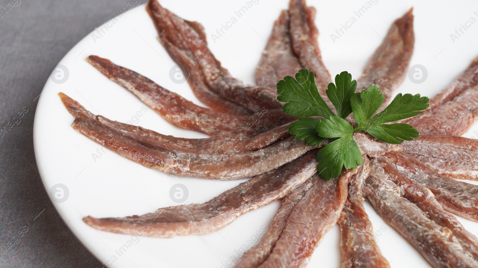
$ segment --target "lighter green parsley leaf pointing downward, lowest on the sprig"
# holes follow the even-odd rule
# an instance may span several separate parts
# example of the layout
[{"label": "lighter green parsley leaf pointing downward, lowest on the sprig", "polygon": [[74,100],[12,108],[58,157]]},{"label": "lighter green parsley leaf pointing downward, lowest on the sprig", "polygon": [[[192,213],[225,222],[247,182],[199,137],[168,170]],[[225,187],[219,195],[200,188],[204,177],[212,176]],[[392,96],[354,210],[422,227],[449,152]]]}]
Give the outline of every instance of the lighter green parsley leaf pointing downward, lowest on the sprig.
[{"label": "lighter green parsley leaf pointing downward, lowest on the sprig", "polygon": [[338,138],[317,153],[317,160],[320,161],[317,170],[321,178],[337,178],[342,167],[355,169],[357,165],[363,164],[359,146],[353,139],[353,127],[347,121],[331,116],[329,119],[320,119],[315,129],[321,137]]}]

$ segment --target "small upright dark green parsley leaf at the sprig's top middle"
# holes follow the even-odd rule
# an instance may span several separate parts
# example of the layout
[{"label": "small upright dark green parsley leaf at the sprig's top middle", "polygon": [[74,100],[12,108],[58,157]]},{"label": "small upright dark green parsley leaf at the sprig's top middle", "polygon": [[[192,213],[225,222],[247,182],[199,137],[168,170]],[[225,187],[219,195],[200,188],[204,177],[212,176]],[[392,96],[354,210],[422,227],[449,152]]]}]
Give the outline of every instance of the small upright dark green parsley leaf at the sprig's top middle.
[{"label": "small upright dark green parsley leaf at the sprig's top middle", "polygon": [[337,115],[341,118],[347,118],[352,113],[350,97],[355,93],[357,82],[352,80],[352,75],[348,72],[341,72],[335,76],[335,84],[329,83],[326,94],[330,102],[334,104]]}]

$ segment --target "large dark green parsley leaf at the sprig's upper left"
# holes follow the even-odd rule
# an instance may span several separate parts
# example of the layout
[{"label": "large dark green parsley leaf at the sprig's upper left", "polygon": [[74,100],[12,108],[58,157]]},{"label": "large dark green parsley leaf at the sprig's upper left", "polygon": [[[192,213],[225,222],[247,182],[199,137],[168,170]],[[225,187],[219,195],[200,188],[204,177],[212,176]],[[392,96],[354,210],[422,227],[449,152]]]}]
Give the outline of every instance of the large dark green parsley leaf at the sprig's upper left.
[{"label": "large dark green parsley leaf at the sprig's upper left", "polygon": [[286,76],[277,83],[277,100],[287,102],[282,108],[285,113],[297,117],[335,115],[320,96],[313,72],[303,69],[295,78]]}]

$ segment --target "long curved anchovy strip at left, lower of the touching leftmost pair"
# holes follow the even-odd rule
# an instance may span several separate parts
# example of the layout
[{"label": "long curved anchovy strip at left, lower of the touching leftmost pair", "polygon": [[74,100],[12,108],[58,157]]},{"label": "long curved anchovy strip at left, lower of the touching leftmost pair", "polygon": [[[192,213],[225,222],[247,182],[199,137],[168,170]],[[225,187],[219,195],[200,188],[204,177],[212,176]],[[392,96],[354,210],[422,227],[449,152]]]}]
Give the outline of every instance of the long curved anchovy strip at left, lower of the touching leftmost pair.
[{"label": "long curved anchovy strip at left, lower of the touching leftmost pair", "polygon": [[[76,113],[75,109],[69,106],[72,103],[71,98],[62,93],[60,96],[65,107],[76,117],[72,124],[76,131],[134,162],[175,175],[219,180],[248,178],[269,172],[314,149],[304,141],[288,137],[256,151],[231,155],[197,153],[180,147],[168,150],[111,131],[99,120]],[[85,110],[83,107],[81,109]]]}]

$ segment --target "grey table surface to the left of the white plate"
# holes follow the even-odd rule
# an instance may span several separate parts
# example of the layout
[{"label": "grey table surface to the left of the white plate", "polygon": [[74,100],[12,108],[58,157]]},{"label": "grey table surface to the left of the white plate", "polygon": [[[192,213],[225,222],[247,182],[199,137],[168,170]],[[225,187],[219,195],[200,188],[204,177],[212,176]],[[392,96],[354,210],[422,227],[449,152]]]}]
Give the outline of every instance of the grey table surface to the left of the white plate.
[{"label": "grey table surface to the left of the white plate", "polygon": [[[66,227],[43,187],[33,151],[33,118],[36,97],[56,64],[127,4],[0,0],[0,129],[9,129],[0,133],[2,268],[103,267]],[[13,119],[24,107],[28,113],[20,122]]]}]

